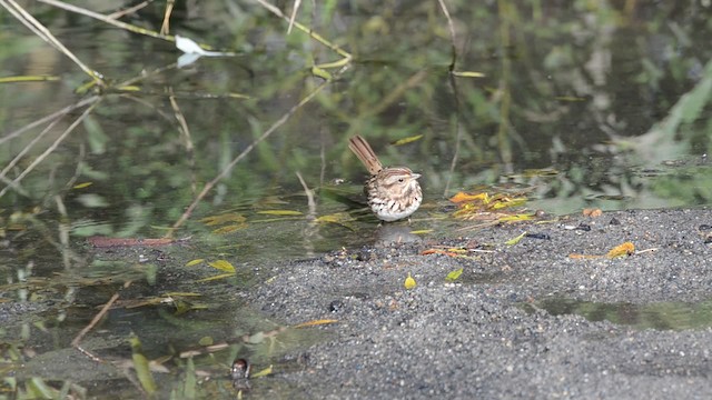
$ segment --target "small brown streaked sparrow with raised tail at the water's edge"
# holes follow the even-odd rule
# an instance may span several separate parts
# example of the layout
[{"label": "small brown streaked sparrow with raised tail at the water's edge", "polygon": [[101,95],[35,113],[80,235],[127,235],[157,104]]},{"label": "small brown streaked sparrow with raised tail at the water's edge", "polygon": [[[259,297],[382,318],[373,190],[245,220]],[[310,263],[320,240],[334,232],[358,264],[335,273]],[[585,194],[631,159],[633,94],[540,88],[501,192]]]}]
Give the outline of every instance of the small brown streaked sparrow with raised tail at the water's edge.
[{"label": "small brown streaked sparrow with raised tail at the water's edge", "polygon": [[383,168],[366,139],[355,136],[348,148],[366,166],[370,178],[364,187],[370,210],[383,221],[395,221],[411,217],[421,207],[423,191],[414,173],[406,167]]}]

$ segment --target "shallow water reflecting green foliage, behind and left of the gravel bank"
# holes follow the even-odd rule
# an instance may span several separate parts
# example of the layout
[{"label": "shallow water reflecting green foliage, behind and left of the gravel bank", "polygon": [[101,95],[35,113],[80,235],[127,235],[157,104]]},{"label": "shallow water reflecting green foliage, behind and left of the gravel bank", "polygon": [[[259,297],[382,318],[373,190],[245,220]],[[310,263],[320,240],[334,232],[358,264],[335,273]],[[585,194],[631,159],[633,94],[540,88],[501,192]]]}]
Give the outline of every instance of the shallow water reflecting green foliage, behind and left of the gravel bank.
[{"label": "shallow water reflecting green foliage, behind and left of the gravel bank", "polygon": [[[48,319],[53,348],[63,349],[96,312],[75,307],[100,306],[126,281],[148,282],[129,298],[159,292],[156,281],[175,291],[180,277],[161,269],[180,276],[194,273],[180,270],[190,260],[224,259],[238,271],[224,292],[216,290],[221,281],[184,289],[202,291],[208,310],[234,314],[241,307],[233,292],[267,279],[278,261],[379,240],[359,203],[365,169],[347,149],[357,133],[384,163],[423,174],[425,202],[412,229],[432,230],[425,237],[466,226],[448,218],[446,199],[482,188],[524,193],[528,209],[558,214],[710,204],[710,8],[537,3],[449,4],[454,69],[483,78],[448,73],[449,33],[436,2],[303,6],[298,20],[354,60],[324,69],[334,80],[298,109],[325,82],[312,67],[340,56],[298,30],[287,36],[286,23],[257,3],[177,10],[172,32],[237,53],[184,68],[174,64],[180,52],[171,42],[36,4],[29,11],[80,60],[107,81],[129,83],[90,90],[98,98],[83,119],[88,104],[27,131],[19,130],[87,99],[76,91],[88,78],[2,13],[2,77],[57,80],[0,84],[0,278],[8,282],[0,300],[53,301],[50,311],[66,314]],[[158,29],[162,8],[152,7],[127,21]],[[167,260],[161,250],[121,250],[117,258],[86,244],[97,234],[162,237],[241,152],[175,232],[190,244],[167,251]],[[314,190],[312,207],[304,186]],[[199,268],[190,279],[219,272]],[[140,327],[156,312],[147,309],[118,320]],[[205,319],[216,337],[237,330],[234,318],[187,314]],[[158,332],[171,329],[158,321]],[[6,340],[17,332],[6,331]],[[180,346],[196,340],[186,332]],[[160,340],[144,346],[155,354],[167,348]]]}]

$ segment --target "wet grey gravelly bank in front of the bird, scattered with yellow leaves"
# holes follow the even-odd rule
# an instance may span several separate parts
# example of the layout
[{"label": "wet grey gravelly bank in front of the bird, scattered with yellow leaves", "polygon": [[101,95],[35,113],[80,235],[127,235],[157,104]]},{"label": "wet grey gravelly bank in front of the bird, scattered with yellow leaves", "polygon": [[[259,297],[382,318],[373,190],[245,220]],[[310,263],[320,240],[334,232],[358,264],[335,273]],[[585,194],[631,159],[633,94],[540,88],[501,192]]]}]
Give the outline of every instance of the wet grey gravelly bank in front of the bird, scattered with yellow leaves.
[{"label": "wet grey gravelly bank in front of the bird, scattered with yellow leaves", "polygon": [[[268,378],[301,398],[710,398],[710,308],[694,304],[712,293],[711,226],[709,209],[622,211],[347,249],[279,267],[248,300],[289,324],[338,320],[310,328],[329,339],[294,354],[305,368]],[[639,252],[570,257],[623,242]],[[448,248],[467,257],[422,254]],[[558,301],[629,304],[622,320],[647,318],[639,306],[685,302],[700,323],[637,329],[543,306]],[[676,328],[680,316],[669,317]],[[256,380],[255,394],[267,386]]]}]

